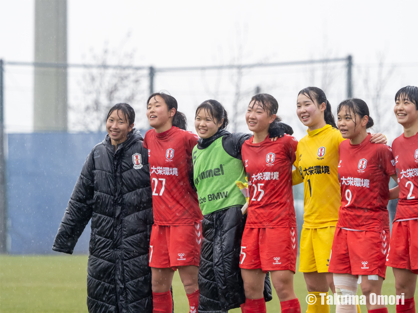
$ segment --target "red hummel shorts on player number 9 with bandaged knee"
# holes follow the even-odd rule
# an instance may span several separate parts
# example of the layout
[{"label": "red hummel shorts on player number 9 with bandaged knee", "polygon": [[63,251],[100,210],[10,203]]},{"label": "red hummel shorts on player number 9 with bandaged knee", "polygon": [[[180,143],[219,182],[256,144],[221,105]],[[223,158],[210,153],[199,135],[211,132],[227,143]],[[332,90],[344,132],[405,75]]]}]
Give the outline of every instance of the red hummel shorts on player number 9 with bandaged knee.
[{"label": "red hummel shorts on player number 9 with bandaged knee", "polygon": [[373,232],[336,227],[328,271],[385,278],[389,240],[388,230]]}]

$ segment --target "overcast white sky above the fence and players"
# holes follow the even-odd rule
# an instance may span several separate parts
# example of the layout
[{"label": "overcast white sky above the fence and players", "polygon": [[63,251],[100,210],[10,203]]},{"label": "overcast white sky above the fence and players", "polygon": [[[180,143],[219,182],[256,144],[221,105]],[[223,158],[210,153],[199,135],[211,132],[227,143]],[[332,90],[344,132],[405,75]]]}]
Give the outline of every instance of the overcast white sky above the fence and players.
[{"label": "overcast white sky above the fence and players", "polygon": [[[0,57],[7,61],[33,61],[34,1],[1,0],[0,12]],[[376,63],[376,56],[384,53],[387,63],[415,64],[401,83],[416,85],[418,81],[416,0],[69,0],[67,12],[70,63],[82,63],[82,56],[88,55],[90,48],[100,50],[106,41],[116,47],[128,31],[132,39],[125,48],[136,48],[137,65],[229,63],[236,55],[237,31],[247,31],[245,63],[352,54],[355,64],[363,64]],[[17,84],[18,76],[15,79]],[[16,107],[21,106],[19,109],[25,109],[23,124],[30,128],[30,101],[13,104],[13,82],[6,83],[10,87],[5,103],[6,123],[16,124]],[[156,89],[168,87],[157,81]],[[400,87],[393,86],[393,90]],[[295,90],[301,88],[296,86]],[[296,96],[297,91],[295,102]]]}]

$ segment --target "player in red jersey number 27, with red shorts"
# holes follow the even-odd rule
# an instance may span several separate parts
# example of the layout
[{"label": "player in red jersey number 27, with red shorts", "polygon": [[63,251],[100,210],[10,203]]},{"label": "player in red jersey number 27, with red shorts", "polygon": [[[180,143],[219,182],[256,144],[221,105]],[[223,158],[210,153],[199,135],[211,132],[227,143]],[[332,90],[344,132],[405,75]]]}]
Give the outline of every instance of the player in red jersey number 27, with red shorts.
[{"label": "player in red jersey number 27, with red shorts", "polygon": [[170,288],[177,268],[193,312],[199,303],[202,214],[190,179],[191,151],[198,137],[185,130],[186,117],[177,111],[176,99],[165,93],[153,93],[148,98],[147,117],[154,127],[144,139],[154,212],[149,259],[153,312],[171,313]]}]

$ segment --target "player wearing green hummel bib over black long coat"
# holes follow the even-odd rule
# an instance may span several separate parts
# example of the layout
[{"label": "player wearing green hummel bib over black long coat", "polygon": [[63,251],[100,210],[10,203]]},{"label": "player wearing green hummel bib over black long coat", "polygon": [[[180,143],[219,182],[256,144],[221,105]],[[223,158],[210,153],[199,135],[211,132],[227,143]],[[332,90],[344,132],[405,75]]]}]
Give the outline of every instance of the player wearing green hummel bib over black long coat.
[{"label": "player wearing green hummel bib over black long coat", "polygon": [[[241,147],[250,134],[229,133],[227,112],[216,100],[196,109],[194,126],[199,139],[193,149],[194,184],[203,213],[199,266],[199,312],[221,313],[245,303],[239,268],[245,197],[236,180],[245,180]],[[270,137],[291,132],[285,124],[274,123]],[[271,300],[270,280],[265,277],[266,300]]]}]

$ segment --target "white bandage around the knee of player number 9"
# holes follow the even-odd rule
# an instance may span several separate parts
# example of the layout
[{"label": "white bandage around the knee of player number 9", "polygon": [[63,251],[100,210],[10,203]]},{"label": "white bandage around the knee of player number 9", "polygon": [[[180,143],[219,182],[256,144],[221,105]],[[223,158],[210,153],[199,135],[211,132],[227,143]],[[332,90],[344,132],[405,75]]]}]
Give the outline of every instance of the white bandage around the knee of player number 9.
[{"label": "white bandage around the knee of player number 9", "polygon": [[[336,313],[357,313],[355,295],[358,284],[355,276],[334,274],[335,293],[341,304],[336,305]],[[353,301],[354,300],[354,301]],[[350,303],[350,304],[349,304]]]}]

